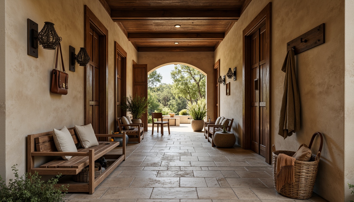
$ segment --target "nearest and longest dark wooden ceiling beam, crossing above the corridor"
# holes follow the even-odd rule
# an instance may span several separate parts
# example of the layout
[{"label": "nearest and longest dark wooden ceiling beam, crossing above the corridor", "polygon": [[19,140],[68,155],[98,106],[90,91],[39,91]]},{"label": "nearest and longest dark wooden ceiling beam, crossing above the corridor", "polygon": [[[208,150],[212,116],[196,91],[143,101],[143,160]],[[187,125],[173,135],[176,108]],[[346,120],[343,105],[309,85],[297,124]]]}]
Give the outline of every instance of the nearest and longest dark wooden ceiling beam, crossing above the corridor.
[{"label": "nearest and longest dark wooden ceiling beam, crossing above the corridor", "polygon": [[126,20],[225,20],[237,21],[240,10],[112,10],[114,22]]}]

